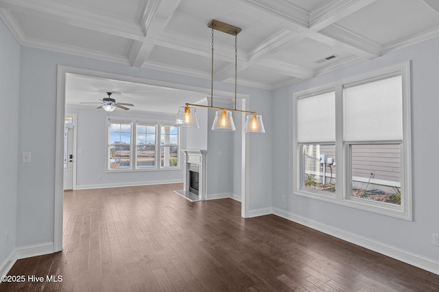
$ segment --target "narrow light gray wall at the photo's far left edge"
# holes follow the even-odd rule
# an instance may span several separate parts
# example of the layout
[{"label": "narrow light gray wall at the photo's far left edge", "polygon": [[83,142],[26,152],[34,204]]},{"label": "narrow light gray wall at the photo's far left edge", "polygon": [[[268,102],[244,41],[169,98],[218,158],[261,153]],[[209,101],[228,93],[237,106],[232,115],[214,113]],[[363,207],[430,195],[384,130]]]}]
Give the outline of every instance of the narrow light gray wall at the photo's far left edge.
[{"label": "narrow light gray wall at the photo's far left edge", "polygon": [[[16,245],[20,45],[0,20],[0,268]],[[21,160],[20,160],[21,161]],[[5,233],[9,240],[5,242]]]}]

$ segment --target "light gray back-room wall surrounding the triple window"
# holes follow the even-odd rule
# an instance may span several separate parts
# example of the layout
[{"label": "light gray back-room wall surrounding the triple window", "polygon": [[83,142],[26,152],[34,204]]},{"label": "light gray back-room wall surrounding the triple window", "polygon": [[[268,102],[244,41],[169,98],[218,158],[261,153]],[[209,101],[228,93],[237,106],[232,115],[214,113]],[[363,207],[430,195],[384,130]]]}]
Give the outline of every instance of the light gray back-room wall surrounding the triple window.
[{"label": "light gray back-room wall surrounding the triple window", "polygon": [[[139,113],[66,107],[66,112],[78,114],[77,187],[91,189],[123,185],[147,185],[183,181],[182,168],[178,170],[149,170],[145,172],[106,172],[106,121],[108,118],[132,118],[145,121],[175,122],[175,115]],[[185,146],[185,137],[181,139]],[[180,165],[182,155],[180,155]],[[101,176],[102,179],[99,179]]]}]

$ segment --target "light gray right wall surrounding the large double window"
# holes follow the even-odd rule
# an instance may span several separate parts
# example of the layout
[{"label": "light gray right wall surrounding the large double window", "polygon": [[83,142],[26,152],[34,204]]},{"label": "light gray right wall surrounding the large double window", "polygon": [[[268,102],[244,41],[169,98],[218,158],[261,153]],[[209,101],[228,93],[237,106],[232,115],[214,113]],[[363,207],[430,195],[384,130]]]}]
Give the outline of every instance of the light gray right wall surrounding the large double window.
[{"label": "light gray right wall surrounding the large double window", "polygon": [[[439,196],[435,183],[439,152],[434,150],[439,143],[438,51],[439,38],[434,38],[276,90],[272,122],[279,127],[273,131],[276,142],[272,154],[274,208],[438,262],[439,247],[432,244],[432,234],[439,233]],[[294,114],[292,94],[408,60],[412,60],[413,222],[292,195],[289,181],[297,161],[289,163],[285,159],[292,157],[289,142],[292,124],[291,118],[287,118]],[[285,196],[287,202],[281,202],[281,196]]]}]

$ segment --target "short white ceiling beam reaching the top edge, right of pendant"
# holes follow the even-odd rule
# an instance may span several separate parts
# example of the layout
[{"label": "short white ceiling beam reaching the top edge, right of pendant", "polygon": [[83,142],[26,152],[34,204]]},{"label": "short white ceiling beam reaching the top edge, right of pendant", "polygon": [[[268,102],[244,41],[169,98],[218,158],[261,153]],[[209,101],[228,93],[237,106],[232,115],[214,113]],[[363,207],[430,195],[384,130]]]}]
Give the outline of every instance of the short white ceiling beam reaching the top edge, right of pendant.
[{"label": "short white ceiling beam reaching the top edge, right of pendant", "polygon": [[361,10],[376,0],[335,0],[328,1],[309,13],[309,28],[319,31],[340,19]]}]

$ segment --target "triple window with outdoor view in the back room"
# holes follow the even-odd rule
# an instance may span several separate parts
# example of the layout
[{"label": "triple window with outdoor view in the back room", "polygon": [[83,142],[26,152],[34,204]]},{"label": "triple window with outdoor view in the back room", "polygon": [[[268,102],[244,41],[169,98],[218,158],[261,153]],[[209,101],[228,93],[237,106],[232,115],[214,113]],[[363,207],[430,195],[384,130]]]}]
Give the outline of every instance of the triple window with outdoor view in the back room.
[{"label": "triple window with outdoor view in the back room", "polygon": [[161,122],[108,120],[107,170],[179,168],[179,141],[179,129]]}]

